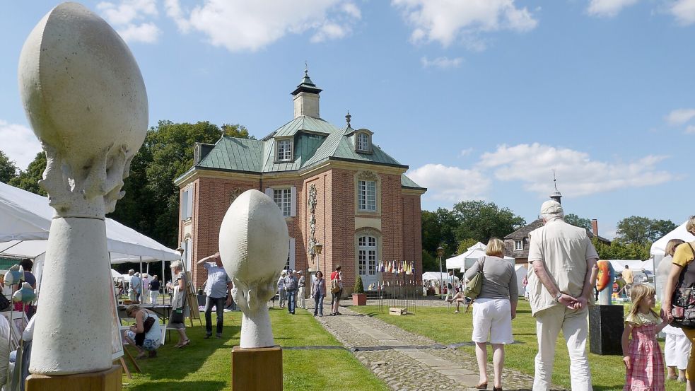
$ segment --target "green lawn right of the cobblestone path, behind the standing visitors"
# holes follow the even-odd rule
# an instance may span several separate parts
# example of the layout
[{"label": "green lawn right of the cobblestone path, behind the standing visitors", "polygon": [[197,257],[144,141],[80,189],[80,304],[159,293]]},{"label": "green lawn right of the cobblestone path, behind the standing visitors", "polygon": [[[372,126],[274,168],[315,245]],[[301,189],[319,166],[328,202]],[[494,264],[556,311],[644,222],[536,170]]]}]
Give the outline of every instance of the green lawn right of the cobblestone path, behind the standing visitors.
[{"label": "green lawn right of the cobblestone path, behind the standing visitors", "polygon": [[[444,307],[418,307],[416,315],[392,316],[378,313],[378,307],[367,305],[351,306],[351,310],[376,317],[385,322],[397,325],[409,332],[423,335],[442,344],[470,342],[472,334],[471,312],[454,314],[453,307],[447,312]],[[515,343],[505,348],[505,367],[520,370],[533,375],[534,358],[537,353],[536,322],[531,316],[529,303],[520,300],[517,317],[513,320]],[[663,348],[663,344],[662,344]],[[474,346],[463,346],[463,351],[475,355]],[[489,355],[491,356],[491,355]],[[491,359],[491,358],[490,358]],[[625,383],[625,369],[622,356],[598,356],[589,354],[593,388],[597,391],[622,390]],[[558,339],[553,371],[553,383],[570,388],[569,358],[567,347],[562,336]],[[666,390],[683,390],[683,383],[666,380]]]}]

